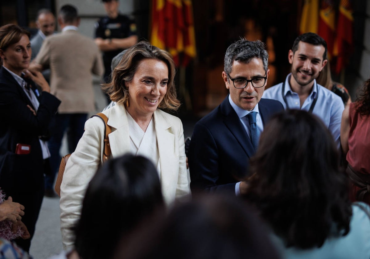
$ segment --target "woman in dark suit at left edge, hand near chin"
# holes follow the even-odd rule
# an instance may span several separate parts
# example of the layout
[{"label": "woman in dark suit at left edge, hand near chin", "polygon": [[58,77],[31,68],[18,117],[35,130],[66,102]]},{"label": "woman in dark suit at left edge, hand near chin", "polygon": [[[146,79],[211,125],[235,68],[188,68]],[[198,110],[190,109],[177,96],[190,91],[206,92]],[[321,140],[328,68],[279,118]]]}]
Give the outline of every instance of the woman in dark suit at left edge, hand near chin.
[{"label": "woman in dark suit at left edge, hand near chin", "polygon": [[[44,195],[44,174],[50,174],[47,139],[60,104],[43,75],[28,70],[30,33],[7,24],[0,27],[0,183],[1,189],[26,208],[22,218],[30,239],[17,244],[30,249]],[[37,90],[36,84],[41,89]]]}]

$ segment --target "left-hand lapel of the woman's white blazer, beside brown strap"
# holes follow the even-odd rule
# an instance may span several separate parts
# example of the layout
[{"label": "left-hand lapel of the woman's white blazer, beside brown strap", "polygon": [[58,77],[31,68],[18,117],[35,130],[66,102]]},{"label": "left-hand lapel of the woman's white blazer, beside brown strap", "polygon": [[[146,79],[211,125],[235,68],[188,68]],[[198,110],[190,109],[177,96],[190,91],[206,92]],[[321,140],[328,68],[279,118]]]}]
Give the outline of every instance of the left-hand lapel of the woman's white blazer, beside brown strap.
[{"label": "left-hand lapel of the woman's white blazer, beside brown strap", "polygon": [[130,152],[127,114],[123,105],[114,105],[114,107],[110,109],[107,124],[112,127],[112,132],[108,135],[112,157],[118,157]]}]

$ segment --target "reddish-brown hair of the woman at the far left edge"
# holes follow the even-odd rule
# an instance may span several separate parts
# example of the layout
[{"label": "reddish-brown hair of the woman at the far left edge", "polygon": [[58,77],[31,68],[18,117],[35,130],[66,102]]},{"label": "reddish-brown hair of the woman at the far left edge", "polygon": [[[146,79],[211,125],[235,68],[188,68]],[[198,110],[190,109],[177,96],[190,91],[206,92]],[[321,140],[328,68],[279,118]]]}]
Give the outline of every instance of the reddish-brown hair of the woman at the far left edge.
[{"label": "reddish-brown hair of the woman at the far left edge", "polygon": [[[6,24],[0,27],[0,50],[6,51],[6,49],[21,40],[23,35],[31,37],[31,33],[26,29],[15,25]],[[2,58],[0,58],[0,65],[3,64]]]}]

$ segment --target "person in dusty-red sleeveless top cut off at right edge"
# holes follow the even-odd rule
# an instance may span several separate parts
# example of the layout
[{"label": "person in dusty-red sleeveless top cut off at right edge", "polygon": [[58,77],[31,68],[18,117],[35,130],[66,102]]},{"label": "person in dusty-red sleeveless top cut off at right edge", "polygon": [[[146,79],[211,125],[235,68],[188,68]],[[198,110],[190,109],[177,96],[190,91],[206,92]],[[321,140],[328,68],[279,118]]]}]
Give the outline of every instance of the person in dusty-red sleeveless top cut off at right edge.
[{"label": "person in dusty-red sleeveless top cut off at right edge", "polygon": [[344,109],[340,141],[351,179],[350,199],[370,204],[370,79],[357,100]]}]

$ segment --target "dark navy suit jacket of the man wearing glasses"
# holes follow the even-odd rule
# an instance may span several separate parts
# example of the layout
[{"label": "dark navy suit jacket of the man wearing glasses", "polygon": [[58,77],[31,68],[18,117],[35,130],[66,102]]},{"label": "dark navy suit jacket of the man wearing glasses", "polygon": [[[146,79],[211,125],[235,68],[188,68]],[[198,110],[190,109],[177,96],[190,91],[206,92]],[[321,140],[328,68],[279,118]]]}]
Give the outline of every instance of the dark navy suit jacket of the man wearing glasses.
[{"label": "dark navy suit jacket of the man wearing glasses", "polygon": [[[265,125],[272,114],[283,110],[283,105],[261,98],[258,108]],[[191,191],[235,194],[235,183],[248,176],[249,159],[254,153],[252,142],[227,96],[195,124],[188,153]]]}]

